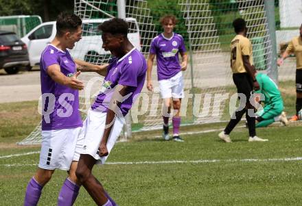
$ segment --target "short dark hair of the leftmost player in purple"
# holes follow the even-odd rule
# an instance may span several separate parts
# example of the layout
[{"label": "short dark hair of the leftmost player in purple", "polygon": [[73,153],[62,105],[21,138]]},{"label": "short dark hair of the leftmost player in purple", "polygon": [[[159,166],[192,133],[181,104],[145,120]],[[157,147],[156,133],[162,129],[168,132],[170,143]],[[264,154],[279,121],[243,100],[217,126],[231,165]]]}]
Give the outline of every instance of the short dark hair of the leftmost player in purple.
[{"label": "short dark hair of the leftmost player in purple", "polygon": [[56,19],[57,35],[62,36],[66,31],[75,31],[82,25],[82,20],[75,14],[62,12]]}]

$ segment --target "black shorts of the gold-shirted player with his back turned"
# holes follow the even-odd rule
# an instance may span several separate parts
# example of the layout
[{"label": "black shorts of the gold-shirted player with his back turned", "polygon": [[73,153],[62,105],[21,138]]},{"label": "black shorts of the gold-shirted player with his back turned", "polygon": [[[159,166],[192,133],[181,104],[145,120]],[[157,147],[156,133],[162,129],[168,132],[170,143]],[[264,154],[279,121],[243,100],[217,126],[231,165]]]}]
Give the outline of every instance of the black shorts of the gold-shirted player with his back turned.
[{"label": "black shorts of the gold-shirted player with his back turned", "polygon": [[[246,102],[249,101],[253,94],[253,79],[248,73],[235,73],[233,74],[233,81],[237,88],[238,94],[244,94],[246,96]],[[240,96],[238,96],[240,98]]]}]

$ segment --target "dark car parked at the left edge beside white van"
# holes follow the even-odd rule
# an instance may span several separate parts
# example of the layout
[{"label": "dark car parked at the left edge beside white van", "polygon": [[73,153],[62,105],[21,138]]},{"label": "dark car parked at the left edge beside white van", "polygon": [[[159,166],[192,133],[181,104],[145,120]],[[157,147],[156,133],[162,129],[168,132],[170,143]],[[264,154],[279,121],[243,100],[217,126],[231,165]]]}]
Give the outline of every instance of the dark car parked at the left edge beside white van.
[{"label": "dark car parked at the left edge beside white van", "polygon": [[0,31],[0,68],[16,74],[30,64],[27,47],[12,31]]}]

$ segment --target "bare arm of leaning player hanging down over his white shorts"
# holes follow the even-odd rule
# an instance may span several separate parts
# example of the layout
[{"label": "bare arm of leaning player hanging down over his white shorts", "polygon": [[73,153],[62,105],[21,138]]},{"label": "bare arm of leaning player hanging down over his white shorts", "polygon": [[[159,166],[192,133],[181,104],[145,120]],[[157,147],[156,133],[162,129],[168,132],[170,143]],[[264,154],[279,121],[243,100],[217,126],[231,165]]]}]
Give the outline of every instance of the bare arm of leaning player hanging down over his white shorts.
[{"label": "bare arm of leaning player hanging down over his white shorts", "polygon": [[113,125],[115,123],[115,118],[117,118],[117,116],[119,115],[122,115],[119,106],[121,105],[121,102],[128,98],[127,88],[128,86],[118,84],[109,103],[108,112],[106,115],[106,127],[103,133],[102,141],[99,146],[100,157],[108,155],[108,138],[111,133],[111,129],[113,128]]}]

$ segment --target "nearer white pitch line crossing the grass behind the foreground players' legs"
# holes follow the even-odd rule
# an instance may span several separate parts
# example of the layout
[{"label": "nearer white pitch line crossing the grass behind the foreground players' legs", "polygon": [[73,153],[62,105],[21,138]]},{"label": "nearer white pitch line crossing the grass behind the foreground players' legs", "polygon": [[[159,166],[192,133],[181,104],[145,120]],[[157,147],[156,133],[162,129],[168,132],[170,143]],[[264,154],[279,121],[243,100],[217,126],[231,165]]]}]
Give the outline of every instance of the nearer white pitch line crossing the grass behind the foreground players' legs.
[{"label": "nearer white pitch line crossing the grass behind the foreground players' legs", "polygon": [[[197,160],[167,160],[143,162],[106,162],[111,165],[136,165],[136,164],[204,164],[217,162],[293,162],[301,161],[302,157],[270,158],[270,159],[197,159]],[[37,166],[38,164],[0,164],[5,167]]]}]

